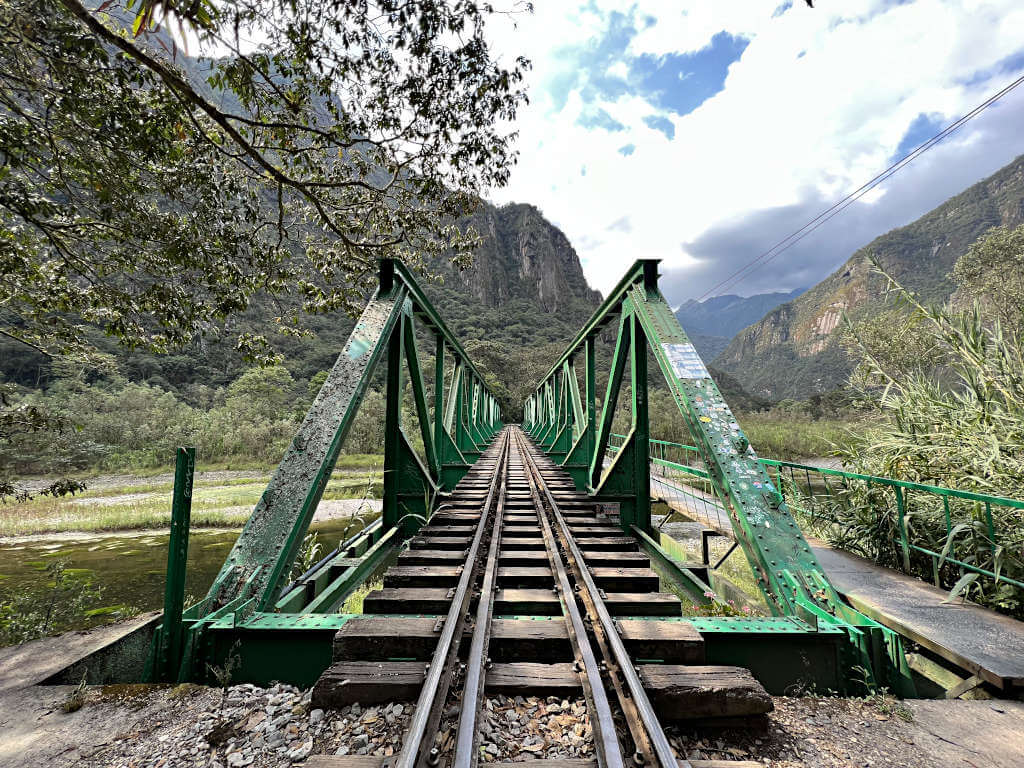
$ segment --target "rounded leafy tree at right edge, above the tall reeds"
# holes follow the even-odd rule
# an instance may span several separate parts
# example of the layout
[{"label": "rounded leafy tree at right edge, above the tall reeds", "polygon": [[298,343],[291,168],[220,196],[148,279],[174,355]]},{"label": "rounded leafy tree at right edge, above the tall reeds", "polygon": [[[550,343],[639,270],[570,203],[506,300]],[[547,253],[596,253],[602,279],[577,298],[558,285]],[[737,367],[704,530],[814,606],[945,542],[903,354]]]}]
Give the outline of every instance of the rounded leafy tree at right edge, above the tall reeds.
[{"label": "rounded leafy tree at right edge, above the tall reeds", "polygon": [[956,260],[953,280],[1006,331],[1024,331],[1024,224],[989,229]]}]

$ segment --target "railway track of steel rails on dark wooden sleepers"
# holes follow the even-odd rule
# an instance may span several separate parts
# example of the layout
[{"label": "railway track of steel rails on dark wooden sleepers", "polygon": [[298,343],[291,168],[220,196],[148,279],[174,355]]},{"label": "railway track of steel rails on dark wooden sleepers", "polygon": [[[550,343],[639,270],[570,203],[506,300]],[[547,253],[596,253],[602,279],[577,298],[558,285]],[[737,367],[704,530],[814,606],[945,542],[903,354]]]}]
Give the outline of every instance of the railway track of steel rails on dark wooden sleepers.
[{"label": "railway track of steel rails on dark wooden sleepers", "polygon": [[313,705],[416,701],[387,764],[471,768],[488,696],[582,696],[593,760],[546,763],[687,768],[667,722],[757,722],[772,705],[749,671],[705,664],[659,586],[636,540],[506,427],[338,632]]}]

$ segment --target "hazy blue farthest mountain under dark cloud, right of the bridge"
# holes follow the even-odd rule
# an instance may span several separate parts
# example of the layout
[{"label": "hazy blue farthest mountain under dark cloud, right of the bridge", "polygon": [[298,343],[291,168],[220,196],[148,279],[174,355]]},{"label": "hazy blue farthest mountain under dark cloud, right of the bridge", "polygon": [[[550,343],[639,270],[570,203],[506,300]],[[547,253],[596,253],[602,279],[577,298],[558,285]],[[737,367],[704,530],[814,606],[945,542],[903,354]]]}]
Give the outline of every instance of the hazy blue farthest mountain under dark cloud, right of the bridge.
[{"label": "hazy blue farthest mountain under dark cloud, right of the bridge", "polygon": [[703,301],[690,299],[676,310],[676,318],[700,356],[712,360],[725,350],[733,336],[806,290],[798,288],[790,293],[761,293],[745,297],[727,294]]}]

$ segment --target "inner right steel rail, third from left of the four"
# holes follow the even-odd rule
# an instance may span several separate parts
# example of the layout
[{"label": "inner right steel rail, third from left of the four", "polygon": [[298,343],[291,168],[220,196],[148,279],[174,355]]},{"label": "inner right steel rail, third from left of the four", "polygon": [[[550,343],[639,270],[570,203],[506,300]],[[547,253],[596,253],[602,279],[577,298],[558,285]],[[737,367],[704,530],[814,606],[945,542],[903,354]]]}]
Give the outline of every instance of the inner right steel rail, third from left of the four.
[{"label": "inner right steel rail, third from left of the four", "polygon": [[580,680],[583,683],[584,694],[587,697],[591,712],[591,724],[594,728],[594,744],[597,752],[597,760],[600,768],[621,768],[625,765],[623,760],[622,746],[618,743],[618,736],[615,733],[615,721],[611,714],[611,705],[608,702],[607,692],[604,690],[604,682],[601,680],[601,669],[598,666],[594,649],[591,647],[590,639],[587,637],[587,627],[583,616],[580,614],[580,606],[575,602],[575,592],[569,584],[568,573],[565,570],[565,563],[562,562],[561,555],[555,548],[555,538],[548,523],[547,515],[544,512],[544,505],[540,494],[540,483],[544,478],[540,469],[531,461],[528,447],[523,442],[520,432],[516,432],[516,450],[522,458],[524,474],[529,484],[530,497],[534,500],[534,507],[537,510],[537,518],[541,523],[544,532],[544,546],[548,553],[548,560],[551,563],[552,573],[556,575],[556,591],[561,598],[563,607],[563,617],[568,629],[569,640],[572,643],[578,657],[577,665],[583,663],[583,670],[578,668]]}]

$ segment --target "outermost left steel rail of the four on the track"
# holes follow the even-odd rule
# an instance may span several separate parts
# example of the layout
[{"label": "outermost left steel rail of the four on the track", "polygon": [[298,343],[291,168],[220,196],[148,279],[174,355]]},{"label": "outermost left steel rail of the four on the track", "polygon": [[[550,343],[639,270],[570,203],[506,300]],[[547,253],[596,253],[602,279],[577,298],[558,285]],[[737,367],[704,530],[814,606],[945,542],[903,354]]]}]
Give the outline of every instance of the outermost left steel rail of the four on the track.
[{"label": "outermost left steel rail of the four on the track", "polygon": [[[508,428],[502,434],[501,439],[502,445],[499,451],[495,473],[487,488],[487,497],[484,500],[483,509],[480,510],[480,519],[476,524],[476,532],[466,554],[466,563],[463,567],[462,575],[459,578],[459,585],[456,587],[452,604],[449,606],[441,636],[437,640],[437,647],[428,665],[427,678],[423,681],[423,688],[420,690],[420,696],[416,701],[416,712],[409,725],[409,730],[406,732],[404,743],[393,763],[395,768],[418,768],[419,766],[426,765],[428,761],[428,753],[422,750],[423,739],[431,724],[433,724],[431,730],[436,730],[437,723],[440,720],[441,709],[447,696],[447,688],[452,680],[452,667],[455,656],[459,651],[458,643],[453,645],[453,640],[457,635],[460,638],[462,637],[462,630],[469,607],[469,598],[472,594],[469,588],[475,582],[477,572],[476,556],[480,549],[480,542],[483,540],[486,522],[490,518],[490,507],[494,504],[498,479],[501,474],[498,471],[498,467],[503,462],[508,461],[508,452],[511,442]],[[444,678],[444,685],[441,685],[442,677]],[[440,691],[441,688],[443,688],[443,691]],[[438,695],[439,693],[440,695]],[[431,734],[431,737],[433,735]],[[431,755],[431,757],[435,758],[436,755]]]}]

